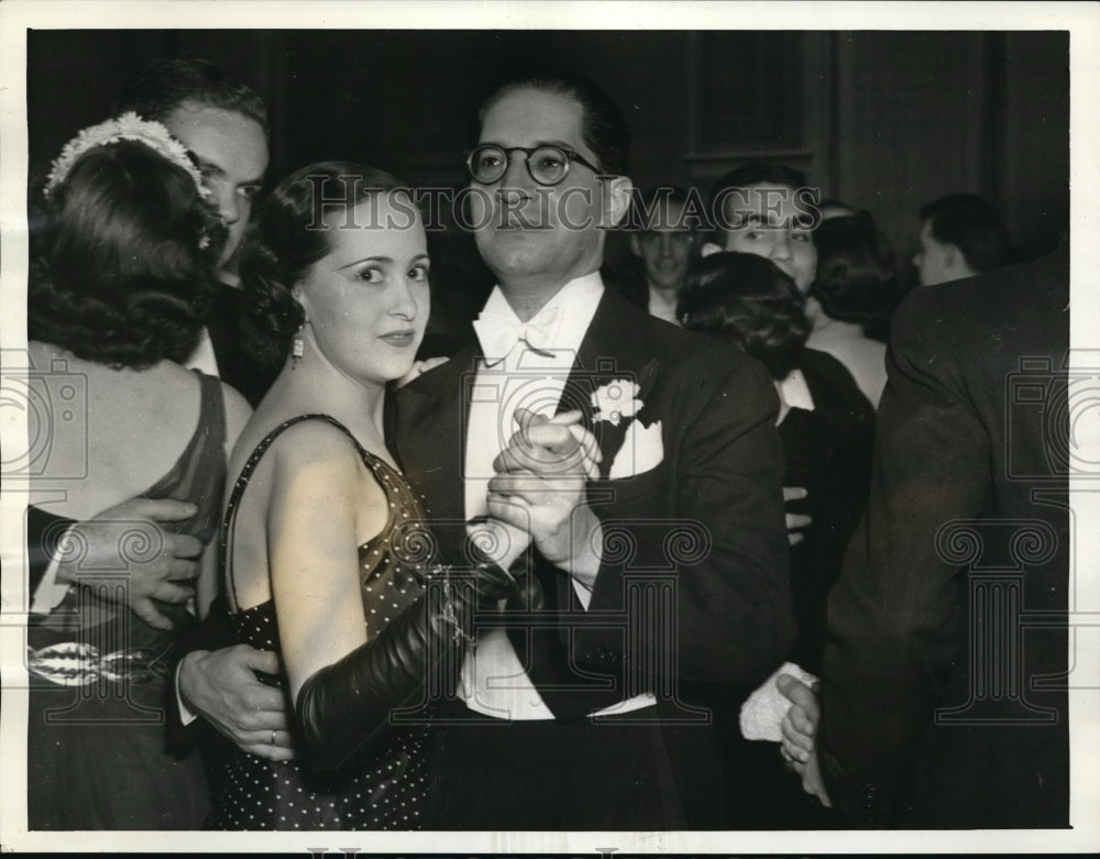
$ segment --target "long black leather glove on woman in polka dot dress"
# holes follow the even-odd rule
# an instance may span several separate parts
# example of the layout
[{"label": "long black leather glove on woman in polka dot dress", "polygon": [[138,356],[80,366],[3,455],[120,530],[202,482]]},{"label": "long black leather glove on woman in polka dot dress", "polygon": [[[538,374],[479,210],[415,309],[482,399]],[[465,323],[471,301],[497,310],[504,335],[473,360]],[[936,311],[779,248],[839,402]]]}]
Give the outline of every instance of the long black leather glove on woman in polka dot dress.
[{"label": "long black leather glove on woman in polka dot dress", "polygon": [[473,640],[473,613],[506,597],[513,576],[482,559],[472,571],[428,579],[427,591],[373,640],[309,676],[295,723],[317,769],[353,764],[386,736],[392,714],[413,709],[458,682]]}]

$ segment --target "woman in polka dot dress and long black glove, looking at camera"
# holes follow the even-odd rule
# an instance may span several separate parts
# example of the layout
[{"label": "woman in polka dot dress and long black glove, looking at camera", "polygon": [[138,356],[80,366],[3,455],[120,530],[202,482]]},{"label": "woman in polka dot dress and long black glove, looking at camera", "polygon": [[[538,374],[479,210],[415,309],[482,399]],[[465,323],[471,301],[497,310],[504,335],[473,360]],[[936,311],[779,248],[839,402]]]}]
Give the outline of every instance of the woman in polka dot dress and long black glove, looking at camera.
[{"label": "woman in polka dot dress and long black glove, looking at camera", "polygon": [[[429,310],[403,187],[310,165],[273,191],[244,249],[246,333],[283,371],[230,462],[223,573],[238,641],[280,657],[261,680],[293,703],[295,758],[218,762],[211,828],[418,828],[426,687],[453,682],[470,608],[512,584],[484,555],[470,575],[433,566],[427,511],[383,439],[385,386],[411,371]],[[484,527],[504,568],[526,548]]]}]

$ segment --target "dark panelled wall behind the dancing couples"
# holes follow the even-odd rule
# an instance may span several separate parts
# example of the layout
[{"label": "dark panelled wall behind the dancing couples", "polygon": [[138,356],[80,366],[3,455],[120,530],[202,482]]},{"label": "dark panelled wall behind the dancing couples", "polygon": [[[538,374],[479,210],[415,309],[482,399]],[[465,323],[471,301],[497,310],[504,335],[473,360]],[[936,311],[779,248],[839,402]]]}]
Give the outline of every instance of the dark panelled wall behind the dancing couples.
[{"label": "dark panelled wall behind the dancing couples", "polygon": [[[277,179],[351,158],[417,186],[459,187],[471,119],[501,80],[566,69],[627,114],[639,187],[710,183],[749,158],[806,170],[868,208],[909,275],[917,209],[983,194],[1021,255],[1053,249],[1069,212],[1066,32],[31,31],[32,169],[112,112],[146,60],[210,59],[272,117]],[[433,238],[438,299],[462,315],[488,287],[468,235]],[[608,256],[625,256],[622,235]]]}]

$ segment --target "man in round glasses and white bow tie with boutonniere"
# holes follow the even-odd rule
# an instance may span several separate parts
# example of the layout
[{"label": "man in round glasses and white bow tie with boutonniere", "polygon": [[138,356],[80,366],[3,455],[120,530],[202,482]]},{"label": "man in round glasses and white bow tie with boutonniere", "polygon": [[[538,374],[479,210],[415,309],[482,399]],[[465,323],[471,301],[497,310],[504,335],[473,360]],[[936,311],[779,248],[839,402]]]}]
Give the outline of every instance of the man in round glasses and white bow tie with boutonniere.
[{"label": "man in round glasses and white bow tie with boutonniere", "polygon": [[[627,141],[587,80],[521,79],[490,97],[468,165],[498,285],[479,343],[397,394],[397,452],[433,522],[539,525],[513,571],[521,587],[481,618],[437,733],[440,828],[726,825],[700,693],[754,687],[793,639],[766,373],[601,280],[606,229],[629,205]],[[514,437],[520,409],[540,417]],[[552,416],[573,409],[600,474],[563,509],[541,488],[554,463],[527,454],[554,432],[568,442]]]}]

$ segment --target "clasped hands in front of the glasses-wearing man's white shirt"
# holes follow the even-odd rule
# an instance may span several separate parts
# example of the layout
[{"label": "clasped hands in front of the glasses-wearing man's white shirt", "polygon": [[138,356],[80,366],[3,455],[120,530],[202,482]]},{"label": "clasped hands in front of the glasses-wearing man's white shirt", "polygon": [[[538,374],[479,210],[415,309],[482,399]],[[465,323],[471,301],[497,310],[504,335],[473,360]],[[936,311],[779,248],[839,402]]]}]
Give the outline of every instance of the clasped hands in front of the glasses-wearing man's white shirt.
[{"label": "clasped hands in front of the glasses-wearing man's white shirt", "polygon": [[517,408],[519,429],[493,461],[487,506],[493,520],[530,535],[548,561],[591,590],[602,531],[585,493],[587,481],[598,474],[601,454],[581,417],[566,411],[547,418]]}]

